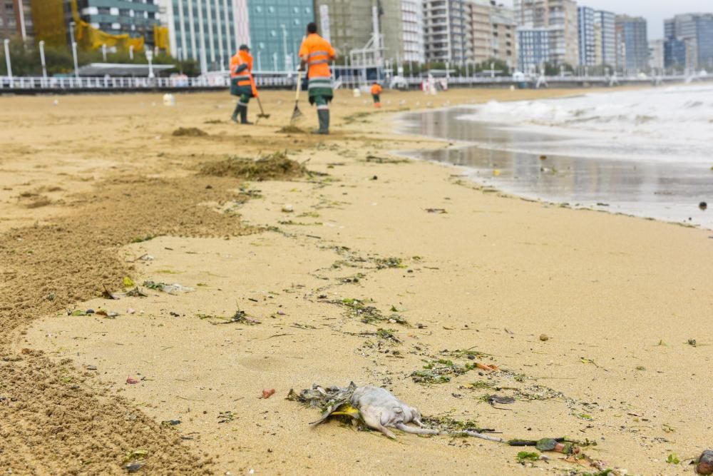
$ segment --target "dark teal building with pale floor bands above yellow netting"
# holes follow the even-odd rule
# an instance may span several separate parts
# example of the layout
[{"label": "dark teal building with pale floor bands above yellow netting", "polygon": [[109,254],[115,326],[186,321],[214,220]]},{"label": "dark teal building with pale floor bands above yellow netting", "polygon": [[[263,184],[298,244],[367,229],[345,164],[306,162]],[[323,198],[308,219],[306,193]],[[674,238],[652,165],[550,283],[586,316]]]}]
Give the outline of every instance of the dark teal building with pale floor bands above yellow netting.
[{"label": "dark teal building with pale floor bands above yellow netting", "polygon": [[155,0],[77,0],[79,18],[111,35],[143,36],[153,45],[153,27],[160,18]]}]

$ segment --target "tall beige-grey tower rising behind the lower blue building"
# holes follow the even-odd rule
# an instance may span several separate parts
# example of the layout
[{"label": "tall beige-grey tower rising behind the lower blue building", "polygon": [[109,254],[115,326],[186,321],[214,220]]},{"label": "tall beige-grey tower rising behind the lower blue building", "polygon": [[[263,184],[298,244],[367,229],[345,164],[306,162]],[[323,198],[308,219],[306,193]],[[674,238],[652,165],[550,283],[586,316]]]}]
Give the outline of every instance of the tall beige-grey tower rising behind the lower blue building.
[{"label": "tall beige-grey tower rising behind the lower blue building", "polygon": [[514,0],[513,6],[518,26],[527,29],[545,28],[550,32],[548,62],[578,64],[578,11],[574,0]]}]

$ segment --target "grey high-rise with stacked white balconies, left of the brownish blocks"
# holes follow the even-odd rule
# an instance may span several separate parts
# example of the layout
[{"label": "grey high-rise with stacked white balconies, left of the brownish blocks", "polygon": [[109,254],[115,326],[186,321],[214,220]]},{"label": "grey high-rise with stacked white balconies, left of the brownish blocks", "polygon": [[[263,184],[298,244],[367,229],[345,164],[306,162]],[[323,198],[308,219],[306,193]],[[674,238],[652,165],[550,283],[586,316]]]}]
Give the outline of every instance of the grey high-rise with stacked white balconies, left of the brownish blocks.
[{"label": "grey high-rise with stacked white balconies, left of the brownish blocks", "polygon": [[465,0],[424,0],[426,61],[473,61],[467,10]]}]

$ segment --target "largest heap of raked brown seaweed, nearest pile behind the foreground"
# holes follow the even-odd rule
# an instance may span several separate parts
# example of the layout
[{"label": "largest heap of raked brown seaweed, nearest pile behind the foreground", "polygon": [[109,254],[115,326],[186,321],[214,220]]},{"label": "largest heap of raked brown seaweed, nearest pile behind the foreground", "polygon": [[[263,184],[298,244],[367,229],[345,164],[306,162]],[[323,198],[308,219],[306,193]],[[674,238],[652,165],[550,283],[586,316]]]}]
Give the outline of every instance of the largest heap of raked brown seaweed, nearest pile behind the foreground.
[{"label": "largest heap of raked brown seaweed, nearest pile behind the foreground", "polygon": [[257,160],[233,156],[223,161],[202,164],[204,176],[234,177],[251,181],[289,180],[306,175],[303,163],[293,161],[286,152],[275,152]]}]

